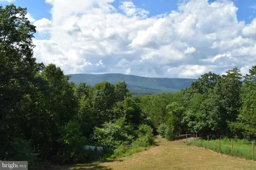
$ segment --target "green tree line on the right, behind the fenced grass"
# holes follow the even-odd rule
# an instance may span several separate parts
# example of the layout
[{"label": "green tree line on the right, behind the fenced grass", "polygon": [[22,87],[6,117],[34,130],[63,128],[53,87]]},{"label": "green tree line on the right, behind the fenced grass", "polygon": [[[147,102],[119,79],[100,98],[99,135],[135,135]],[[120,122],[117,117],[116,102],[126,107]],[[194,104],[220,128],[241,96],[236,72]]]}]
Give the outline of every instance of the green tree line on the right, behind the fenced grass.
[{"label": "green tree line on the right, behind the fenced grass", "polygon": [[141,109],[169,140],[180,133],[203,138],[252,138],[256,134],[256,66],[244,77],[238,68],[201,75],[175,94],[143,97]]}]

